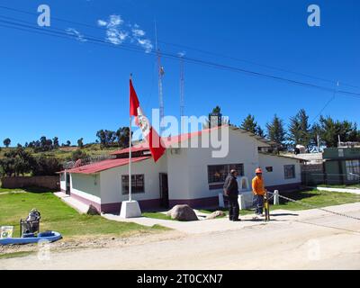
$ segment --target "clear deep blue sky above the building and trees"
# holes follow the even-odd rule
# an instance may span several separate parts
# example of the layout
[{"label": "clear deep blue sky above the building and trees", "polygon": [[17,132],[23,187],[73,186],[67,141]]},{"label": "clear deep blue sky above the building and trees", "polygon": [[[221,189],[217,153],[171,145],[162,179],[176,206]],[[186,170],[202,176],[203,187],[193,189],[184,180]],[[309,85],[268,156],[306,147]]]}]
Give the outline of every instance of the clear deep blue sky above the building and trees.
[{"label": "clear deep blue sky above the building and trees", "polygon": [[[116,15],[121,24],[115,28],[128,36],[121,44],[113,45],[114,49],[81,39],[59,39],[0,26],[1,144],[6,137],[16,145],[43,135],[58,136],[60,143],[67,139],[76,143],[80,137],[90,142],[95,140],[96,130],[128,125],[130,73],[144,112],[149,114],[151,108],[157,108],[156,57],[145,50],[147,43],[155,45],[155,19],[159,47],[166,53],[184,51],[189,58],[334,87],[327,81],[264,66],[279,67],[338,80],[340,89],[360,93],[360,88],[342,85],[360,86],[357,0],[0,2],[34,14],[40,4],[49,4],[53,18],[94,27],[99,27],[99,20],[104,22],[102,29],[96,29],[52,18],[51,29],[75,29],[105,40],[106,29],[111,28],[109,16]],[[320,5],[320,27],[307,24],[310,4]],[[0,8],[0,20],[4,20],[1,16],[34,24],[37,18]],[[133,30],[138,30],[137,36]],[[142,50],[119,49],[124,45]],[[178,116],[179,61],[163,58],[163,66],[165,113]],[[219,104],[234,124],[248,113],[254,114],[263,128],[275,113],[287,123],[301,108],[313,119],[332,96],[318,89],[203,65],[185,63],[184,70],[185,114],[207,114]],[[323,113],[360,123],[359,107],[360,98],[338,94]]]}]

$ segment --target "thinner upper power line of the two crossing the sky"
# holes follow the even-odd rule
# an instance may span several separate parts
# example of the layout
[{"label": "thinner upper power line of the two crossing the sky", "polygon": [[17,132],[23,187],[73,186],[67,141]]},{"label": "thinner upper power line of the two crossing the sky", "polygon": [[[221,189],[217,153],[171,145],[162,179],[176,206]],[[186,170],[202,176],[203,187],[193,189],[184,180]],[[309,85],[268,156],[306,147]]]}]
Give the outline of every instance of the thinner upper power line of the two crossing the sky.
[{"label": "thinner upper power line of the two crossing the sky", "polygon": [[[21,13],[21,14],[31,14],[31,15],[36,15],[36,16],[38,16],[38,14],[36,14],[36,13],[31,13],[31,12],[28,12],[28,11],[23,11],[23,10],[20,10],[20,9],[15,9],[15,8],[7,7],[7,6],[4,6],[4,5],[0,5],[0,9],[5,9],[5,10],[8,10],[8,11],[13,11],[13,12],[16,12],[16,13]],[[67,19],[63,19],[63,18],[58,18],[58,17],[51,17],[51,19],[54,19],[54,20],[56,20],[56,21],[63,22],[63,23],[72,23],[72,24],[84,26],[84,27],[91,28],[91,29],[106,31],[106,29],[103,28],[103,27],[98,27],[98,26],[94,26],[94,25],[87,24],[87,23],[74,22],[74,21],[71,21],[71,20],[67,20]],[[211,52],[211,51],[204,50],[204,49],[197,49],[197,48],[193,48],[193,47],[190,47],[190,46],[185,46],[185,45],[170,43],[170,42],[162,41],[162,40],[157,40],[157,42],[161,42],[161,43],[164,43],[164,44],[166,44],[166,45],[175,46],[175,47],[179,47],[179,48],[192,49],[192,50],[194,50],[194,51],[199,51],[199,52],[204,53],[204,54],[209,54],[209,55],[213,55],[213,56],[218,56],[218,57],[221,57],[221,58],[229,58],[229,59],[232,59],[232,60],[235,60],[235,61],[240,61],[240,62],[244,62],[244,63],[256,65],[256,66],[258,66],[258,67],[266,67],[266,68],[270,68],[270,69],[273,69],[273,70],[282,71],[282,72],[285,72],[285,73],[291,73],[291,74],[298,75],[298,76],[305,76],[305,77],[309,77],[309,78],[312,78],[312,79],[316,79],[316,80],[320,80],[320,81],[324,81],[324,82],[328,82],[328,83],[332,83],[332,84],[338,83],[338,81],[335,81],[335,80],[329,80],[329,79],[326,79],[326,78],[323,78],[323,77],[319,77],[319,76],[311,76],[311,75],[309,75],[309,74],[305,74],[305,73],[301,73],[301,72],[295,72],[295,71],[292,71],[292,70],[289,70],[289,69],[284,69],[284,68],[281,68],[281,67],[274,67],[274,66],[264,65],[264,64],[260,64],[260,63],[257,63],[257,62],[254,62],[254,61],[250,61],[250,60],[247,60],[247,59],[243,59],[243,58],[230,57],[230,56],[227,56],[227,55],[223,55],[223,54],[220,54],[220,53]],[[347,84],[347,83],[344,83],[344,82],[340,82],[340,84],[341,84],[341,85],[346,85],[346,86],[349,86],[349,87],[353,87],[353,88],[360,89],[360,86],[350,85],[350,84]],[[339,91],[339,92],[340,92],[341,94],[352,94],[352,93],[348,93],[347,91]]]}]

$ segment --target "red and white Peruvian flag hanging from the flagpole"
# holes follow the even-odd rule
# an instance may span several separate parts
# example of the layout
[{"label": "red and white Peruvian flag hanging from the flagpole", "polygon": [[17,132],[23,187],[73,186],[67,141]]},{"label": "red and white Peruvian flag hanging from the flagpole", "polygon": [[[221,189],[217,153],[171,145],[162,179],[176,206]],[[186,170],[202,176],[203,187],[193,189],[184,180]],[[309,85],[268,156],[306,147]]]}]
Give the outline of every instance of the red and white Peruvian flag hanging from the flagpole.
[{"label": "red and white Peruvian flag hanging from the flagpole", "polygon": [[150,149],[151,155],[154,158],[154,161],[157,160],[164,154],[165,147],[161,143],[161,139],[157,134],[157,131],[152,128],[148,118],[142,112],[138,95],[135,92],[135,89],[132,85],[130,79],[130,116],[135,116],[135,122],[142,130],[142,135],[144,139],[148,142],[148,148]]}]

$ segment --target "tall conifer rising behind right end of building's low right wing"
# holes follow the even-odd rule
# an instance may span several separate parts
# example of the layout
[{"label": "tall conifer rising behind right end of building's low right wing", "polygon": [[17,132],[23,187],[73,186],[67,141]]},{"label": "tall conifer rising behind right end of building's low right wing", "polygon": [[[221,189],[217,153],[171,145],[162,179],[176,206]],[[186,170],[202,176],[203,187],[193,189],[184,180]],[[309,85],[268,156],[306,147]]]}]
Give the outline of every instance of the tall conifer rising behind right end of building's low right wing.
[{"label": "tall conifer rising behind right end of building's low right wing", "polygon": [[311,141],[311,129],[309,124],[309,116],[304,109],[301,109],[294,117],[290,118],[288,127],[288,139],[295,148],[300,144],[309,148]]}]

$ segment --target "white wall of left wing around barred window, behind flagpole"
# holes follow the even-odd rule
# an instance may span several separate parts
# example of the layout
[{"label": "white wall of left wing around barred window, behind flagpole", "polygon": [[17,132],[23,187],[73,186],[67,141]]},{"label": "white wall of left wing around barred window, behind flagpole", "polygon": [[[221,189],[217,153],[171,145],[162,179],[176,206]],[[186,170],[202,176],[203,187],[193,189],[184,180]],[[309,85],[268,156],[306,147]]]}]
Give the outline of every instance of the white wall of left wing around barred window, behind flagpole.
[{"label": "white wall of left wing around barred window, behind flagpole", "polygon": [[[145,193],[132,193],[132,199],[159,199],[159,173],[162,172],[166,173],[166,157],[161,157],[157,163],[152,158],[132,163],[131,174],[143,174],[145,188]],[[128,194],[122,194],[121,175],[129,175],[129,166],[118,166],[100,173],[103,204],[129,199]]]}]

